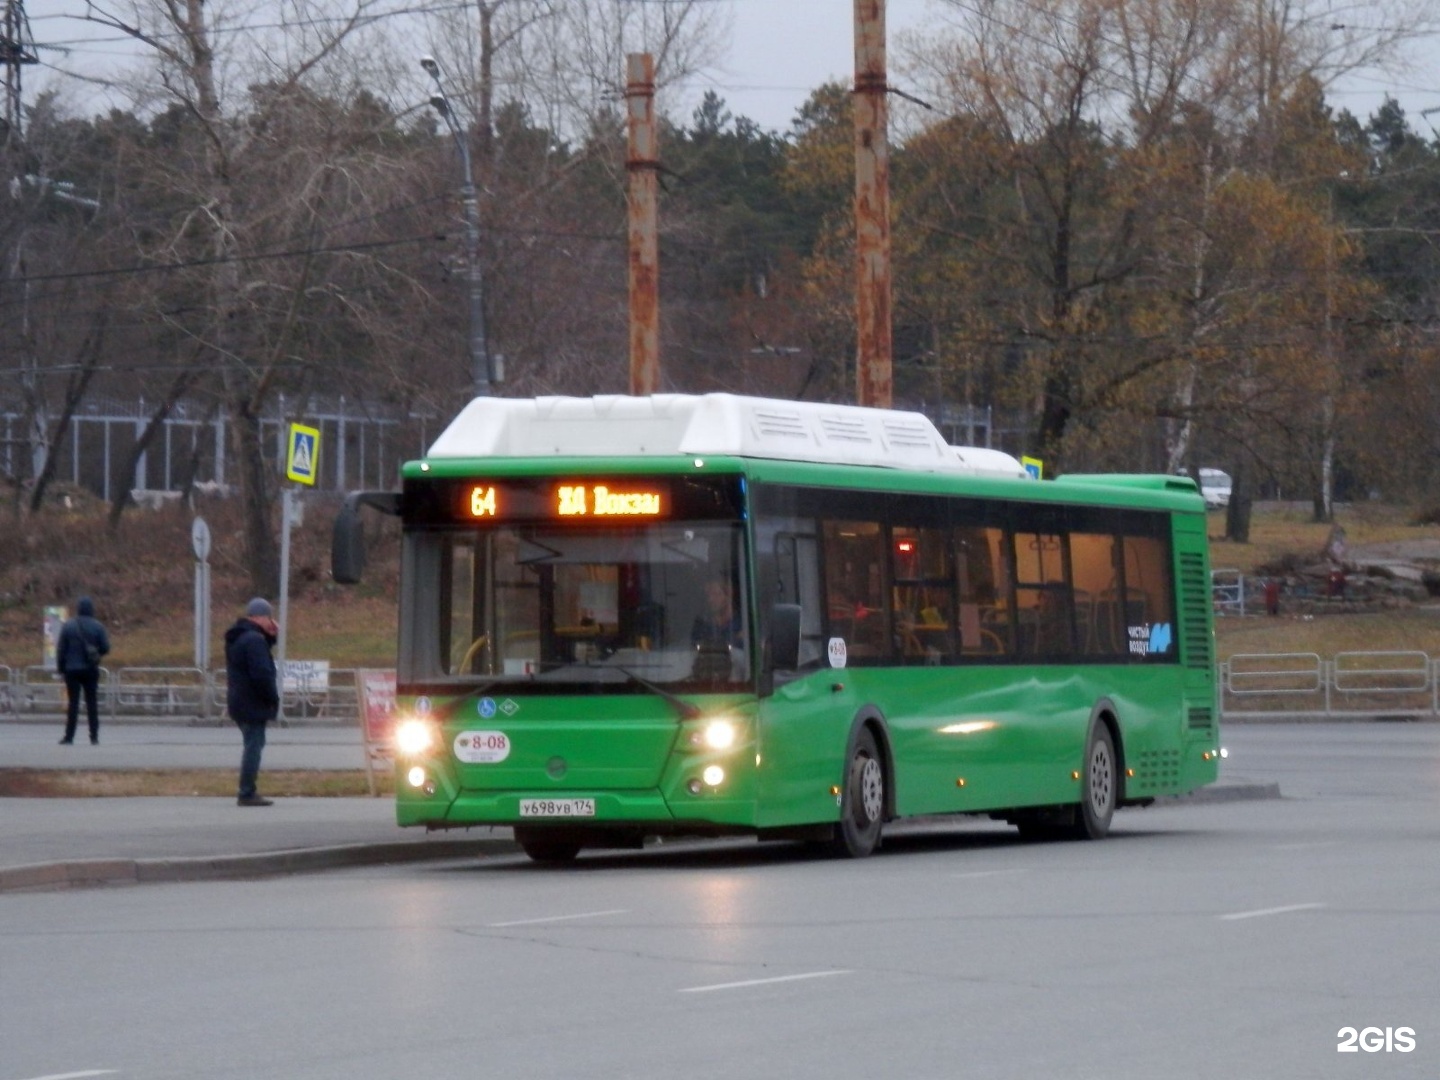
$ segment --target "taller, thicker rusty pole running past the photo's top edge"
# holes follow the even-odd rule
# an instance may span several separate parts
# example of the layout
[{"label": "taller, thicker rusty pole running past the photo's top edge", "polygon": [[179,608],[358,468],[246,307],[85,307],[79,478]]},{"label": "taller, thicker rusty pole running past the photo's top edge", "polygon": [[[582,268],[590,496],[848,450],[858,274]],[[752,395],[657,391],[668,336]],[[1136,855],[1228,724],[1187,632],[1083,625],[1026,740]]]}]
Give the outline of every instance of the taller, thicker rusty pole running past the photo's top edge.
[{"label": "taller, thicker rusty pole running past the photo's top edge", "polygon": [[888,409],[890,131],[886,0],[855,0],[855,399]]}]

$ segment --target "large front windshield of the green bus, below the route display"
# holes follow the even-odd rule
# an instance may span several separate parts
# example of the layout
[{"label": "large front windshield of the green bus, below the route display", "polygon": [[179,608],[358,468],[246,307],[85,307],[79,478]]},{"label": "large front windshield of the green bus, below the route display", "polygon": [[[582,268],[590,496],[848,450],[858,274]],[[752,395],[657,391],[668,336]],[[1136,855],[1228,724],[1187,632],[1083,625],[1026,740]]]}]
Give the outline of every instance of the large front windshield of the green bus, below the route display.
[{"label": "large front windshield of the green bus, below the route display", "polygon": [[734,690],[755,655],[743,543],[730,521],[410,531],[399,677]]}]

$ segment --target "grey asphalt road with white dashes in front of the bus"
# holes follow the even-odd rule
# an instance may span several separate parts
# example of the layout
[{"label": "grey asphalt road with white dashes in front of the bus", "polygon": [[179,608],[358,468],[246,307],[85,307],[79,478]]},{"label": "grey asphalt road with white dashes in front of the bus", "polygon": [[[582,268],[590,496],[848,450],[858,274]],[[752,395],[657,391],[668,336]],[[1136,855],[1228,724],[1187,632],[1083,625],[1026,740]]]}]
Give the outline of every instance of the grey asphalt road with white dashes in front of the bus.
[{"label": "grey asphalt road with white dashes in front of the bus", "polygon": [[1440,727],[1225,743],[1286,798],[1128,811],[1099,844],[962,822],[863,861],[0,896],[0,1080],[1440,1076]]}]

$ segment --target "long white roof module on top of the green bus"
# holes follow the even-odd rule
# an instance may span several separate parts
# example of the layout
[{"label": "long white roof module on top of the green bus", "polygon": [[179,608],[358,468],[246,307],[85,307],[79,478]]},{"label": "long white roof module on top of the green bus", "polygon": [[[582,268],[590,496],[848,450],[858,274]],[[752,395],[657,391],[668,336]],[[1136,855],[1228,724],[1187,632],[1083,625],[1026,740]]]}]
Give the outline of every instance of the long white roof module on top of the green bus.
[{"label": "long white roof module on top of the green bus", "polygon": [[477,397],[431,458],[724,455],[1024,480],[1001,451],[950,446],[917,412],[730,393]]}]

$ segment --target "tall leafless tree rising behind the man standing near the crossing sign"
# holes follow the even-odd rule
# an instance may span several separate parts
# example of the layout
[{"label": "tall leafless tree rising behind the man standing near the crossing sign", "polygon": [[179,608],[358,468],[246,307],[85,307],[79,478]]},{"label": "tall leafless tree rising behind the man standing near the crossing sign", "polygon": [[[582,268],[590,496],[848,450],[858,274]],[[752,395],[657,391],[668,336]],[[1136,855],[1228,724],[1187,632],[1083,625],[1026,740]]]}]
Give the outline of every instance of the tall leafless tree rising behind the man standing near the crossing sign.
[{"label": "tall leafless tree rising behind the man standing near the crossing sign", "polygon": [[[276,475],[261,420],[279,389],[312,376],[307,314],[334,301],[320,265],[321,223],[351,210],[384,171],[383,150],[357,151],[337,135],[337,109],[324,95],[353,96],[357,39],[373,30],[374,9],[373,0],[300,0],[281,17],[269,4],[215,9],[204,0],[88,9],[91,22],[147,48],[150,78],[137,86],[176,115],[166,183],[177,212],[150,255],[190,268],[200,317],[176,330],[193,340],[194,367],[225,400],[256,592],[278,582],[269,520]],[[163,400],[197,377],[179,373]]]}]

